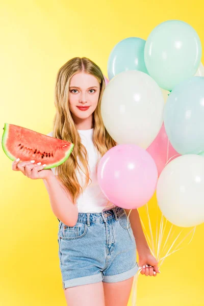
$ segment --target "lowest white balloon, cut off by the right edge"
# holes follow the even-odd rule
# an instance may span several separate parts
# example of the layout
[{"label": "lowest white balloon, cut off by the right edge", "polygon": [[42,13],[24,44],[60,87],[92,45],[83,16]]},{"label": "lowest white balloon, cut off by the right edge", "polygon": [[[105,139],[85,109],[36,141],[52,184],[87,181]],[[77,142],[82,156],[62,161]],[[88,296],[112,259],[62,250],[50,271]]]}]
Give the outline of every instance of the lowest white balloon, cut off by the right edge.
[{"label": "lowest white balloon, cut off by the right edge", "polygon": [[196,226],[204,222],[204,158],[183,155],[171,161],[157,183],[158,205],[171,223]]}]

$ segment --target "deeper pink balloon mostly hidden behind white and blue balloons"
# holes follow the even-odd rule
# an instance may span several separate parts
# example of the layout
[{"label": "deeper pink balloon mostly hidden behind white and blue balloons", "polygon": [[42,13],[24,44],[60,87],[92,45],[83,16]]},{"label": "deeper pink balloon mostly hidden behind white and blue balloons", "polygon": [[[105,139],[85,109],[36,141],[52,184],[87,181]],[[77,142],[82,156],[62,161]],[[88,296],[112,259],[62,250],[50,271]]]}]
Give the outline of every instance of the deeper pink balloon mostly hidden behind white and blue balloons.
[{"label": "deeper pink balloon mostly hidden behind white and blue balloons", "polygon": [[168,140],[164,123],[162,124],[161,130],[156,139],[146,150],[151,155],[151,157],[154,158],[159,175],[168,161],[170,162],[174,158],[180,156],[180,154],[174,150],[170,141]]}]

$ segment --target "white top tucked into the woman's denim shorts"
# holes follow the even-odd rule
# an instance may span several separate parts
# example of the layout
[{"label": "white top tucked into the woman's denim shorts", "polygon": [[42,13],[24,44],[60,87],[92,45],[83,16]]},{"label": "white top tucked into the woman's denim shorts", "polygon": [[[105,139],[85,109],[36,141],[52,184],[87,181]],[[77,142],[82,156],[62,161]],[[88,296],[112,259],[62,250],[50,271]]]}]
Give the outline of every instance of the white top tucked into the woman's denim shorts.
[{"label": "white top tucked into the woman's denim shorts", "polygon": [[[96,164],[97,159],[100,154],[96,147],[93,144],[93,129],[90,130],[78,130],[81,142],[86,147],[88,154],[88,164],[90,167],[89,177],[92,182],[89,180],[89,184],[83,193],[80,193],[77,199],[77,206],[79,213],[100,213],[106,210],[109,210],[113,207],[116,207],[113,203],[111,203],[103,192],[100,190],[100,187],[97,182],[97,171]],[[53,137],[53,132],[47,134],[48,136]],[[52,171],[55,175],[58,174],[57,167],[52,168]],[[85,184],[85,174],[80,170],[77,170],[77,177],[80,185],[84,186]]]}]

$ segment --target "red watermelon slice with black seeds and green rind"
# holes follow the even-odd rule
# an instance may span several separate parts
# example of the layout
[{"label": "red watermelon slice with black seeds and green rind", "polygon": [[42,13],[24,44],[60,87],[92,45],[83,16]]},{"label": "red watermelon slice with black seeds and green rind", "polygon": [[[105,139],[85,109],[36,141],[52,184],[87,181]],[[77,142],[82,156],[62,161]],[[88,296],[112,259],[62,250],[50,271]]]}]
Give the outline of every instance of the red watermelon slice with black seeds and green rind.
[{"label": "red watermelon slice with black seeds and green rind", "polygon": [[44,169],[54,168],[64,163],[74,146],[73,143],[47,136],[25,127],[5,123],[2,147],[12,161],[35,160],[35,164],[46,164]]}]

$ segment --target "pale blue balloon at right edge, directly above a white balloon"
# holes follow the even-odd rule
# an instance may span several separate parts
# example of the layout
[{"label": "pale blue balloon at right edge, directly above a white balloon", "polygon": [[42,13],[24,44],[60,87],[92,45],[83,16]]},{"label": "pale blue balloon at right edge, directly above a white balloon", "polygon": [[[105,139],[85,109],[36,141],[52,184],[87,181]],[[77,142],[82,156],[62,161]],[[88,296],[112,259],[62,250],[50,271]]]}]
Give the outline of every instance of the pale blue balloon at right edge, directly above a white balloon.
[{"label": "pale blue balloon at right edge, directly above a white balloon", "polygon": [[204,151],[204,77],[175,86],[164,108],[166,134],[180,154]]}]

